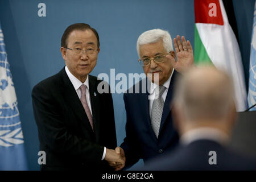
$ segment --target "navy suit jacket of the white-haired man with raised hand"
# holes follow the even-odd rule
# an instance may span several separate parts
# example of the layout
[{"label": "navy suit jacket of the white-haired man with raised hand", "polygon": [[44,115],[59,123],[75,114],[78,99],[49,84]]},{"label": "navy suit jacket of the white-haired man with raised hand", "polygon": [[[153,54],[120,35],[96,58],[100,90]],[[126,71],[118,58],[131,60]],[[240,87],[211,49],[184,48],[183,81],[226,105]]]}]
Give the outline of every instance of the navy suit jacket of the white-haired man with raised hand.
[{"label": "navy suit jacket of the white-haired man with raised hand", "polygon": [[[179,73],[174,71],[172,75],[166,100],[164,102],[162,120],[160,123],[159,137],[151,127],[149,114],[148,92],[143,93],[142,81],[139,84],[139,93],[135,93],[135,84],[127,93],[123,95],[126,109],[126,138],[121,144],[125,151],[126,168],[137,163],[139,159],[143,159],[146,163],[148,159],[152,159],[164,152],[171,150],[176,146],[179,137],[172,124],[172,116],[170,102],[172,100],[172,92],[174,90],[174,80]],[[133,93],[131,93],[133,90]]]}]

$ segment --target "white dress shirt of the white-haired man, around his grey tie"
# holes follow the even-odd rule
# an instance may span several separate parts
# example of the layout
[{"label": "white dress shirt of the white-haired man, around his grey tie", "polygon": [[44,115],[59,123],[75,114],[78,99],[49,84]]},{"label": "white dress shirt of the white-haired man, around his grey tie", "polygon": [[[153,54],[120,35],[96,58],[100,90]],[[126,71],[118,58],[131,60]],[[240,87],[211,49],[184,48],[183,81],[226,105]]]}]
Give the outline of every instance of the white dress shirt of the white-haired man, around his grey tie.
[{"label": "white dress shirt of the white-haired man, around his grey tie", "polygon": [[[166,82],[164,82],[164,84],[163,84],[163,86],[166,88],[166,90],[164,90],[164,93],[162,94],[163,101],[166,101],[166,96],[167,96],[168,89],[169,89],[169,86],[170,86],[172,74],[174,74],[174,69],[172,69],[172,73],[171,73],[170,77],[168,78],[168,80]],[[155,88],[158,87],[159,85],[156,85],[153,82],[150,82],[150,83],[151,83],[151,86],[148,88],[148,92],[151,93],[149,95],[150,98],[153,98],[149,101],[150,102],[149,103],[150,104],[149,105],[150,106],[149,111],[150,111],[150,118],[151,118],[151,110],[152,110],[152,105],[153,105],[154,99],[158,98],[158,93],[156,93]]]}]

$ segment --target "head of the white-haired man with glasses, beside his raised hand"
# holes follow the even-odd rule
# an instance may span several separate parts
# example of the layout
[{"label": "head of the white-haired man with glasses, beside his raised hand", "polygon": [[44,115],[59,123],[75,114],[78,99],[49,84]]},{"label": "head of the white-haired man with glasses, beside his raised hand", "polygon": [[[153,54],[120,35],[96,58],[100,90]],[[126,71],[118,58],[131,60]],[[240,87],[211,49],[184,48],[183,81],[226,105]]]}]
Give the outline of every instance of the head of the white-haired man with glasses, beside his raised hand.
[{"label": "head of the white-haired man with glasses, beside his raised hand", "polygon": [[157,73],[159,74],[158,84],[164,84],[172,73],[171,60],[165,56],[170,54],[175,60],[171,35],[160,29],[143,32],[137,40],[137,52],[146,76],[152,73],[152,82],[155,82],[154,75]]}]

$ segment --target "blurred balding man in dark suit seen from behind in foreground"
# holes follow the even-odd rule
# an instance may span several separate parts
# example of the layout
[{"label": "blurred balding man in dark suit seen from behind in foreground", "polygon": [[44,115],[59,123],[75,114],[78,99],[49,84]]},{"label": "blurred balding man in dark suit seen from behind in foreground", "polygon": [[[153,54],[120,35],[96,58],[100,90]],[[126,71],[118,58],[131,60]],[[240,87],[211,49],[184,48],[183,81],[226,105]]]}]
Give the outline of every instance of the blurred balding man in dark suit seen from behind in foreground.
[{"label": "blurred balding man in dark suit seen from behind in foreground", "polygon": [[227,147],[236,118],[229,76],[195,68],[177,81],[172,114],[181,136],[174,151],[143,170],[256,170],[256,160]]}]

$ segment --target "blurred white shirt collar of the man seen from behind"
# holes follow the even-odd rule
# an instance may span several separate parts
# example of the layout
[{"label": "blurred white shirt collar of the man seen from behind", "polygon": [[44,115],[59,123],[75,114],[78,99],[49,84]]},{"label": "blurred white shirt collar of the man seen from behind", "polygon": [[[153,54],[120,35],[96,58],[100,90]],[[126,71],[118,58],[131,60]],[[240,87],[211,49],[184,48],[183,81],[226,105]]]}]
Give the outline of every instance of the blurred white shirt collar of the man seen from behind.
[{"label": "blurred white shirt collar of the man seen from behind", "polygon": [[200,139],[214,140],[220,144],[226,144],[229,137],[221,130],[213,129],[212,127],[199,127],[184,133],[180,138],[180,142],[181,144],[189,144]]}]

